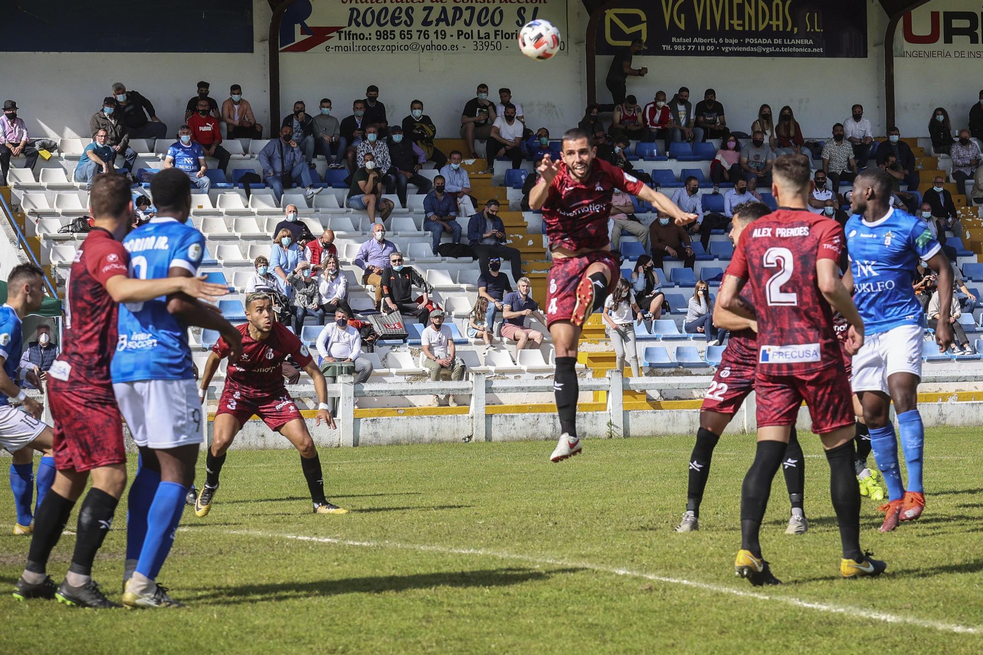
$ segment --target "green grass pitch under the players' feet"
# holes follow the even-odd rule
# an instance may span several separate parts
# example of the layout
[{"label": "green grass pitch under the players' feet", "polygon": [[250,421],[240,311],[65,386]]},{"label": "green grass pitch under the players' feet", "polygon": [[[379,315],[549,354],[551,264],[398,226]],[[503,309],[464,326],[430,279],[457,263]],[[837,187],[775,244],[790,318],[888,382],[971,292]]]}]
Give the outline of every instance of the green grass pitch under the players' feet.
[{"label": "green grass pitch under the players' feet", "polygon": [[[784,584],[733,575],[740,485],[754,440],[714,455],[701,530],[675,534],[691,437],[552,444],[325,449],[315,515],[293,450],[229,453],[205,519],[189,507],[159,580],[184,610],[92,612],[16,602],[29,538],[0,502],[0,652],[983,652],[983,453],[978,430],[929,431],[927,506],[880,534],[862,506],[877,579],[839,579],[829,467],[806,452],[811,525],[783,533],[776,477],[762,530]],[[131,462],[131,471],[135,466]],[[200,457],[199,483],[202,483]],[[119,599],[125,500],[93,573]],[[69,522],[74,529],[76,514]],[[74,536],[49,572],[61,582]]]}]

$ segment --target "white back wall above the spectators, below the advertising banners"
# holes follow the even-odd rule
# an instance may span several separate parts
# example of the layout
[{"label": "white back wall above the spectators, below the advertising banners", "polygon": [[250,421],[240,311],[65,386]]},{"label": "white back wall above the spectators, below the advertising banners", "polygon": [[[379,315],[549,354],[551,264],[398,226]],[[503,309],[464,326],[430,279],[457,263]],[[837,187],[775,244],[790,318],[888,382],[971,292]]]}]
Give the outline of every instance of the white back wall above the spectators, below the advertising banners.
[{"label": "white back wall above the spectators, below the advertising banners", "polygon": [[[777,112],[789,104],[809,137],[824,137],[833,123],[849,115],[860,102],[876,132],[884,125],[884,30],[887,17],[876,0],[857,0],[867,6],[868,57],[808,59],[759,57],[638,57],[636,65],[649,68],[643,79],[631,78],[629,92],[644,104],[659,89],[669,95],[680,86],[702,98],[704,89],[717,89],[727,113],[727,124],[747,131],[758,106],[768,102]],[[969,0],[933,0],[916,10],[916,17],[932,10],[979,11]],[[270,124],[266,90],[267,34],[270,10],[256,0],[256,48],[252,54],[140,54],[140,53],[6,53],[0,67],[0,95],[22,107],[21,115],[35,136],[87,137],[89,116],[109,94],[113,82],[144,92],[157,107],[168,128],[184,118],[184,106],[195,93],[195,83],[207,80],[219,101],[230,84],[243,86],[260,122]],[[579,0],[567,7],[569,51],[547,62],[517,55],[464,53],[325,54],[283,53],[281,111],[278,123],[302,98],[313,109],[330,97],[335,115],[351,112],[352,100],[363,97],[369,84],[380,88],[390,122],[409,113],[413,98],[424,100],[436,123],[438,136],[456,137],[460,111],[474,96],[478,83],[487,83],[492,97],[499,87],[512,89],[521,102],[527,123],[556,134],[573,126],[583,115],[586,97],[584,33],[587,15]],[[920,18],[916,18],[916,29]],[[900,31],[900,26],[898,27]],[[604,86],[609,57],[598,59],[598,98],[609,100]],[[954,127],[964,125],[969,106],[983,88],[978,59],[896,58],[897,121],[908,136],[927,136],[932,108],[946,106]]]}]

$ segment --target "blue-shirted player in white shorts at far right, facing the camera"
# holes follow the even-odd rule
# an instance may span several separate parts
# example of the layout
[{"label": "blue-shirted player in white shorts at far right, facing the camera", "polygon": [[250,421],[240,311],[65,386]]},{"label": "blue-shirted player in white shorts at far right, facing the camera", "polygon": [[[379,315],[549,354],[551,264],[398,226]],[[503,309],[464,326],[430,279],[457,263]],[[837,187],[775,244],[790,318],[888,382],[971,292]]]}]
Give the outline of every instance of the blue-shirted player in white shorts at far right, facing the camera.
[{"label": "blue-shirted player in white shorts at far right, facing the camera", "polygon": [[[853,182],[853,210],[858,215],[851,216],[845,228],[853,302],[866,332],[863,347],[853,356],[853,392],[863,406],[874,457],[888,486],[881,532],[894,530],[898,521],[918,518],[925,506],[925,428],[916,406],[925,317],[912,288],[919,260],[938,274],[942,316],[949,316],[953,302],[952,265],[923,220],[891,207],[892,182],[879,168],[858,175]],[[945,352],[953,341],[953,328],[940,321],[935,338]],[[892,400],[908,468],[906,492],[889,414]]]}]

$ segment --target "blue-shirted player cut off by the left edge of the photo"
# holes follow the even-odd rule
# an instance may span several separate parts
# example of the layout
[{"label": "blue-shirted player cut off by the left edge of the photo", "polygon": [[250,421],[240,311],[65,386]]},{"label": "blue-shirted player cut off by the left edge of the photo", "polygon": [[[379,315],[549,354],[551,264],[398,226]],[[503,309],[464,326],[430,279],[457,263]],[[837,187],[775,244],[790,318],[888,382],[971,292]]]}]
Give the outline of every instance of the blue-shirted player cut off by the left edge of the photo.
[{"label": "blue-shirted player cut off by the left edge of the photo", "polygon": [[[18,375],[24,349],[21,319],[40,309],[44,299],[43,275],[40,268],[29,264],[14,267],[7,278],[7,302],[0,306],[0,447],[14,455],[10,465],[10,488],[17,507],[14,534],[30,534],[32,529],[34,450],[46,451],[37,469],[35,507],[41,506],[55,477],[54,460],[50,456],[54,433],[40,421],[41,403],[27,397],[15,382],[20,378],[43,388],[33,371],[25,369]],[[12,407],[11,400],[20,402],[21,407]]]}]

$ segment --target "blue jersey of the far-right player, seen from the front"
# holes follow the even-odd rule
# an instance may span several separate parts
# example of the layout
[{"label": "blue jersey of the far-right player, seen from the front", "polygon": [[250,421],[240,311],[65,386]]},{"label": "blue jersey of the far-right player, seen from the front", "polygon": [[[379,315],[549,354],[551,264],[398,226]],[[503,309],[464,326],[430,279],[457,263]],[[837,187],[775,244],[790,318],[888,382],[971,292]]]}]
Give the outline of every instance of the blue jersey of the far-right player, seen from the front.
[{"label": "blue jersey of the far-right player, seen from the front", "polygon": [[941,248],[928,223],[899,209],[872,223],[850,216],[846,249],[853,271],[853,302],[866,333],[924,325],[924,312],[911,285],[919,260],[929,260]]}]

